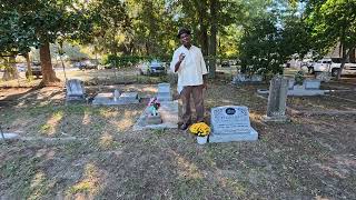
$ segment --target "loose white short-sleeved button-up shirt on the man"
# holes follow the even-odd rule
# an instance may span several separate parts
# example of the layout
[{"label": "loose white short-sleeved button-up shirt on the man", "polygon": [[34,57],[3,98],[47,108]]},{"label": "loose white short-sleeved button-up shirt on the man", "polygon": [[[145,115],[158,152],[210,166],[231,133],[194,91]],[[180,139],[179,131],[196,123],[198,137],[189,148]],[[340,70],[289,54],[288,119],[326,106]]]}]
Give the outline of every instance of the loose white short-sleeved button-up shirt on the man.
[{"label": "loose white short-sleeved button-up shirt on the man", "polygon": [[175,66],[179,61],[180,53],[185,53],[186,57],[181,61],[178,73],[178,93],[181,92],[185,86],[200,86],[204,83],[202,76],[207,74],[207,67],[205,64],[202,53],[199,48],[191,46],[187,49],[180,46],[174,53],[174,58],[170,62],[170,70],[175,71]]}]

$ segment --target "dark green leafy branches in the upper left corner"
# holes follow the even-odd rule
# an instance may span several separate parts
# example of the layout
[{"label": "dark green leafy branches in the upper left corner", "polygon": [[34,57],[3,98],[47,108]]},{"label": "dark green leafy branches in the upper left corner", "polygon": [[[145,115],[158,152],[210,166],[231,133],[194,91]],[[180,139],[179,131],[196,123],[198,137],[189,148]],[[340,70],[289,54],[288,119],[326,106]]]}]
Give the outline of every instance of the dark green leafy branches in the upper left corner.
[{"label": "dark green leafy branches in the upper left corner", "polygon": [[90,30],[78,0],[0,0],[0,52],[26,53],[57,39],[76,39]]}]

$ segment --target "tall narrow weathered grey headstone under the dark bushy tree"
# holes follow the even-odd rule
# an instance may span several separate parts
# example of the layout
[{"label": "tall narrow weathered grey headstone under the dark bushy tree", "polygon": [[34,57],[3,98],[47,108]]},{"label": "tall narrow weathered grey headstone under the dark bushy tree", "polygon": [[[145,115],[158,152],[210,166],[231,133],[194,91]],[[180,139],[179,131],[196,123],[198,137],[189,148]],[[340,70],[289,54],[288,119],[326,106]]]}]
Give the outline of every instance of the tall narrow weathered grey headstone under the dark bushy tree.
[{"label": "tall narrow weathered grey headstone under the dark bushy tree", "polygon": [[265,121],[286,121],[286,102],[288,93],[288,80],[277,76],[270,80]]}]

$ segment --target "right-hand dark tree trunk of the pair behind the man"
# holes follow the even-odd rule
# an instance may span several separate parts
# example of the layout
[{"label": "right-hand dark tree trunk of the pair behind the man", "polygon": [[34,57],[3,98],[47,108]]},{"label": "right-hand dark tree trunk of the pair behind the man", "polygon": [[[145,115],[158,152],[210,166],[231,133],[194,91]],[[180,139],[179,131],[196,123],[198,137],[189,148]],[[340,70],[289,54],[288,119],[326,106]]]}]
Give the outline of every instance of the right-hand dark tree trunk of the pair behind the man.
[{"label": "right-hand dark tree trunk of the pair behind the man", "polygon": [[217,32],[218,32],[218,22],[217,22],[217,11],[218,11],[218,0],[210,0],[210,13],[211,13],[211,29],[210,29],[210,42],[209,42],[209,76],[215,78],[216,71],[216,44],[217,44]]}]

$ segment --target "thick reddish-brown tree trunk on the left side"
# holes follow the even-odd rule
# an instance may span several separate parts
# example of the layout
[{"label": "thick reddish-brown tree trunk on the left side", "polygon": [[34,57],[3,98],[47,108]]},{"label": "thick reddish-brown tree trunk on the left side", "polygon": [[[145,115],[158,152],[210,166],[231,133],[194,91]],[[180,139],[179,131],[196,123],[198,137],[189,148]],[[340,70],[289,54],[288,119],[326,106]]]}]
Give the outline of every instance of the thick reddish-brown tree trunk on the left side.
[{"label": "thick reddish-brown tree trunk on the left side", "polygon": [[40,47],[40,60],[42,70],[42,81],[40,86],[46,87],[60,82],[60,80],[56,77],[56,72],[52,68],[49,42],[46,42],[43,46]]}]

